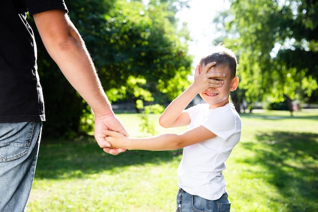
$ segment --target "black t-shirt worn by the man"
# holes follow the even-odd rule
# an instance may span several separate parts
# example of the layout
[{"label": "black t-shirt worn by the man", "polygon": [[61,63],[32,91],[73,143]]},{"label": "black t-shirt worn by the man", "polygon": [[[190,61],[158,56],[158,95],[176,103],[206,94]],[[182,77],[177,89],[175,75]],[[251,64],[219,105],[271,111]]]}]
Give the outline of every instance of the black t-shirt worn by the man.
[{"label": "black t-shirt worn by the man", "polygon": [[0,123],[45,120],[34,33],[26,21],[63,0],[0,0]]}]

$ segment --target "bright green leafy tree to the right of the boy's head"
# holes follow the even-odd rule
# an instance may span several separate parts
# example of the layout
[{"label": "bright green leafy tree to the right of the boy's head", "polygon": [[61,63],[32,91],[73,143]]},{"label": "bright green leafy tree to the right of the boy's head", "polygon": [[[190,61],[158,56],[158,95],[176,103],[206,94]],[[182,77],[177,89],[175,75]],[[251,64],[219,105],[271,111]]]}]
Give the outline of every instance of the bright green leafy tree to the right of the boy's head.
[{"label": "bright green leafy tree to the right of the boy's head", "polygon": [[[241,94],[252,105],[295,100],[317,88],[318,4],[310,0],[234,0],[215,20],[218,41],[236,51]],[[311,58],[311,59],[308,59]],[[292,109],[290,109],[292,111]]]}]

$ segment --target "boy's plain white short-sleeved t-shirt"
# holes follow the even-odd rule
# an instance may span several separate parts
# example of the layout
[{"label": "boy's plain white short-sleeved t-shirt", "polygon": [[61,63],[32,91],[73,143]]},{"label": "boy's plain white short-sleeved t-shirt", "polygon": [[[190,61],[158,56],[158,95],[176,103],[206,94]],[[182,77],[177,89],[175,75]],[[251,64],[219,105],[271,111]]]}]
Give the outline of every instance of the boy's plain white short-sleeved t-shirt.
[{"label": "boy's plain white short-sleeved t-shirt", "polygon": [[183,148],[178,186],[189,194],[217,200],[226,192],[222,170],[240,140],[241,118],[232,103],[215,109],[199,104],[186,111],[191,118],[189,129],[201,125],[216,137]]}]

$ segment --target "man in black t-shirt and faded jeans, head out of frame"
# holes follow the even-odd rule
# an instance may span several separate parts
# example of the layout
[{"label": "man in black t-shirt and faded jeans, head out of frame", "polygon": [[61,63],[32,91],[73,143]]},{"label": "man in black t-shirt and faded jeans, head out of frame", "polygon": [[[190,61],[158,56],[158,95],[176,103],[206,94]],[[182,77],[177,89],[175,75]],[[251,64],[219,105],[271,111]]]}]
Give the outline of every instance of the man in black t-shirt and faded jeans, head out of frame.
[{"label": "man in black t-shirt and faded jeans, head out of frame", "polygon": [[50,56],[92,108],[99,146],[113,155],[124,152],[109,148],[102,132],[128,133],[112,111],[63,0],[1,0],[0,8],[0,211],[21,212],[33,184],[45,121],[36,43],[26,12]]}]

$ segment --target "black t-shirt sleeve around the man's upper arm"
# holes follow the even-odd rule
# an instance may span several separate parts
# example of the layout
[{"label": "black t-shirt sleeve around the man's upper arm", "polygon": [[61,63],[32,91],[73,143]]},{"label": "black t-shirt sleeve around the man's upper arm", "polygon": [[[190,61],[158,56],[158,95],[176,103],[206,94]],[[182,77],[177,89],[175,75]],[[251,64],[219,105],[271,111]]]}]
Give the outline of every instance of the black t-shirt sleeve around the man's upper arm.
[{"label": "black t-shirt sleeve around the man's upper arm", "polygon": [[48,10],[65,10],[66,13],[68,12],[63,0],[25,0],[25,3],[30,15]]}]

